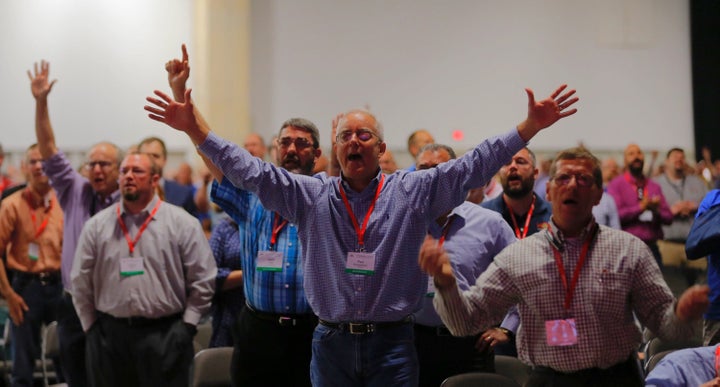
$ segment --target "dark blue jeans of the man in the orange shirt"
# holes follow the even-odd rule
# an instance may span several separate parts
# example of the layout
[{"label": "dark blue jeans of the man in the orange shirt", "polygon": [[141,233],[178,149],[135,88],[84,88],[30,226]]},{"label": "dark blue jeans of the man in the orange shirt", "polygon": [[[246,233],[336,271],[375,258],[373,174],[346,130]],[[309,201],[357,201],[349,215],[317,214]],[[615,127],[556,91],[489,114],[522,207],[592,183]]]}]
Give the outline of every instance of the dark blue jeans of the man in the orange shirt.
[{"label": "dark blue jeans of the man in the orange shirt", "polygon": [[58,280],[42,284],[38,279],[16,273],[13,290],[25,300],[28,311],[22,324],[12,324],[13,386],[32,386],[35,359],[40,357],[40,329],[42,324],[55,321],[62,296],[62,284]]}]

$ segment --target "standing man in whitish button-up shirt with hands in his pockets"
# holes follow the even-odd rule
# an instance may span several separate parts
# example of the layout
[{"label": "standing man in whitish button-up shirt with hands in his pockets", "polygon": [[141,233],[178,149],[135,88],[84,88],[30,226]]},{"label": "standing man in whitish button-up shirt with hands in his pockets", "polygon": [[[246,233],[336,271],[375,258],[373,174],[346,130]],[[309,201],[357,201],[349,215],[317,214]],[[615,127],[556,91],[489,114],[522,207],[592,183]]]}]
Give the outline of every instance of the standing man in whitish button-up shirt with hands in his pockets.
[{"label": "standing man in whitish button-up shirt with hands in his pockets", "polygon": [[72,268],[93,386],[187,386],[217,269],[200,223],[156,193],[151,156],[120,166],[122,201],[90,219]]}]

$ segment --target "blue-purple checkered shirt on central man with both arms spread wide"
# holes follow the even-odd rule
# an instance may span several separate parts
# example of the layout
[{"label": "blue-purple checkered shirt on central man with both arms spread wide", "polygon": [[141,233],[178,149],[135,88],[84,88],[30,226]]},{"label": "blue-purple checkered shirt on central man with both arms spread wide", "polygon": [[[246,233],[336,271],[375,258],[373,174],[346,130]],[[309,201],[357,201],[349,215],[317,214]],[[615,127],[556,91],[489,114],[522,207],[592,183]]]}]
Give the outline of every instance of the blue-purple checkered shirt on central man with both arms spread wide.
[{"label": "blue-purple checkered shirt on central man with both arms spread wide", "polygon": [[339,177],[290,173],[213,133],[198,148],[234,185],[255,192],[266,208],[298,225],[305,294],[318,317],[382,322],[401,320],[421,305],[427,276],[417,261],[430,222],[460,205],[469,189],[483,186],[525,145],[513,129],[437,168],[388,175],[365,233],[365,249],[375,253],[373,275],[345,271],[348,252],[359,246],[339,184],[362,224],[379,168],[375,179],[355,192]]}]

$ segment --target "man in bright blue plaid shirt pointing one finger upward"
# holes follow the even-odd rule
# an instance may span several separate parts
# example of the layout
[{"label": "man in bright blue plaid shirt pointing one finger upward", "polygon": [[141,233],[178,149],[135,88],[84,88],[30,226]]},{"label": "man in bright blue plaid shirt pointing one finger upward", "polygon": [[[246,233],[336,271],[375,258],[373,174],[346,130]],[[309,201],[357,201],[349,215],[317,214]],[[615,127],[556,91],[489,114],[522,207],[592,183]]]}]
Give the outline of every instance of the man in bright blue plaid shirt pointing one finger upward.
[{"label": "man in bright blue plaid shirt pointing one finger upward", "polygon": [[[184,101],[187,51],[166,66],[170,88]],[[182,79],[182,81],[181,81]],[[285,121],[275,141],[277,164],[310,176],[321,154],[317,127],[303,118]],[[258,154],[252,153],[262,160]],[[236,386],[310,386],[312,335],[317,325],[305,297],[298,226],[265,209],[257,195],[237,188],[205,159],[213,173],[211,197],[237,223],[243,270],[218,273],[218,284],[243,286],[246,305],[236,316],[231,364]],[[219,183],[218,183],[219,182]],[[224,278],[220,281],[220,276]],[[218,289],[218,292],[222,291]]]}]

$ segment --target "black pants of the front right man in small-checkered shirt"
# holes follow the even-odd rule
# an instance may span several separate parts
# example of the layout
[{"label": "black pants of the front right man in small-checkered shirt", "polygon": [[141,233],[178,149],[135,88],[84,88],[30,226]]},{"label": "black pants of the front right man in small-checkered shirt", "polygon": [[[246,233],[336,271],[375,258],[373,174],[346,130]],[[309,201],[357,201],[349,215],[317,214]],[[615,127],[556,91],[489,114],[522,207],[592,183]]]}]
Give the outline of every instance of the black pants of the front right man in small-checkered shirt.
[{"label": "black pants of the front right man in small-checkered shirt", "polygon": [[589,368],[567,374],[535,367],[525,387],[642,387],[645,382],[641,372],[634,356],[608,369]]}]

